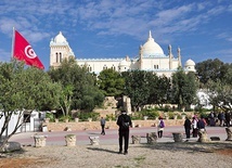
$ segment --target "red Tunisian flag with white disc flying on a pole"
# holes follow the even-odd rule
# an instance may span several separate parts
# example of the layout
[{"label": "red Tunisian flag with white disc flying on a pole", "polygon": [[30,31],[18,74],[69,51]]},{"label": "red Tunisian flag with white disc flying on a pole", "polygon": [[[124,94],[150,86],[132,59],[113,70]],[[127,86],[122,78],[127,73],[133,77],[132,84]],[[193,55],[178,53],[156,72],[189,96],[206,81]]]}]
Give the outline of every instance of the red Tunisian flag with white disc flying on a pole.
[{"label": "red Tunisian flag with white disc flying on a pole", "polygon": [[14,34],[14,53],[13,56],[20,61],[24,61],[26,65],[36,66],[40,69],[44,69],[44,66],[40,62],[36,52],[27,40],[15,30]]}]

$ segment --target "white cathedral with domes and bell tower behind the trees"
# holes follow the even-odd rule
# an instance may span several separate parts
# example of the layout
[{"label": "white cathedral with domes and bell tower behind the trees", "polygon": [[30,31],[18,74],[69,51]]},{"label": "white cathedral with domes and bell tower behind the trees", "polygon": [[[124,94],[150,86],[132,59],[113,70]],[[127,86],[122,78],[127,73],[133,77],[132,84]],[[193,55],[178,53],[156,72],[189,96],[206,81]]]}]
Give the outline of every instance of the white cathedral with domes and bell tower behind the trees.
[{"label": "white cathedral with domes and bell tower behind the trees", "polygon": [[[50,42],[50,67],[59,67],[63,59],[68,59],[75,54],[70,49],[66,38],[60,31]],[[157,76],[165,75],[171,77],[178,67],[182,67],[180,48],[177,49],[177,57],[173,56],[171,46],[168,46],[166,55],[158,43],[155,42],[150,31],[149,38],[143,46],[140,46],[139,55],[134,59],[125,56],[124,59],[76,59],[79,66],[86,66],[89,72],[100,74],[103,69],[113,68],[117,72],[146,70],[154,72]],[[195,72],[195,63],[188,60],[183,69]]]}]

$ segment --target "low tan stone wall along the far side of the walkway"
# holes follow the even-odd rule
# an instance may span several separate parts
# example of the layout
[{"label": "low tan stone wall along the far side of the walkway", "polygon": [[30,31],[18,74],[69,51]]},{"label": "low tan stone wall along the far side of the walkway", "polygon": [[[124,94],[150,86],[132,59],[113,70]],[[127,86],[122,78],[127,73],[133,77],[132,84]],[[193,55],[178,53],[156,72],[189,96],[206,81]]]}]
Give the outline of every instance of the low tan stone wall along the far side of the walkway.
[{"label": "low tan stone wall along the far side of the walkway", "polygon": [[[183,119],[164,119],[165,126],[183,126]],[[154,127],[157,126],[158,120],[132,120],[134,127]],[[49,131],[64,131],[67,128],[74,130],[100,130],[100,121],[79,121],[79,122],[47,122]],[[116,121],[106,121],[106,129],[117,129]]]}]

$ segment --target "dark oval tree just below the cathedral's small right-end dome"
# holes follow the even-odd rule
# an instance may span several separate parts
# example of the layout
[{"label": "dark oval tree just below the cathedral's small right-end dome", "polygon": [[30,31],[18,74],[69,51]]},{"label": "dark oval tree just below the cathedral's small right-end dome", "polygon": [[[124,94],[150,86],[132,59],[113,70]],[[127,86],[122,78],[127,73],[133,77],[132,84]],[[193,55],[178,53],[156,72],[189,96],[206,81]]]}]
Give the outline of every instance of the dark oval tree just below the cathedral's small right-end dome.
[{"label": "dark oval tree just below the cathedral's small right-end dome", "polygon": [[188,107],[196,100],[197,81],[193,73],[185,74],[182,68],[172,75],[171,96],[179,108]]}]

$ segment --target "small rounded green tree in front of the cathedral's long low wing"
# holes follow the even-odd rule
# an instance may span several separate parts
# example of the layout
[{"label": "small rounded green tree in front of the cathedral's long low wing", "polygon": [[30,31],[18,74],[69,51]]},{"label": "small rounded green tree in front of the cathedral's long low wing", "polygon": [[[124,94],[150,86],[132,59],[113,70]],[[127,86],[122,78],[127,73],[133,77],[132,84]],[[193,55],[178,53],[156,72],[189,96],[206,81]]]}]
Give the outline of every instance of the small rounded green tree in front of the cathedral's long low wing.
[{"label": "small rounded green tree in front of the cathedral's long low wing", "polygon": [[125,80],[118,72],[114,69],[104,69],[98,77],[99,88],[106,96],[121,96],[125,87]]}]

